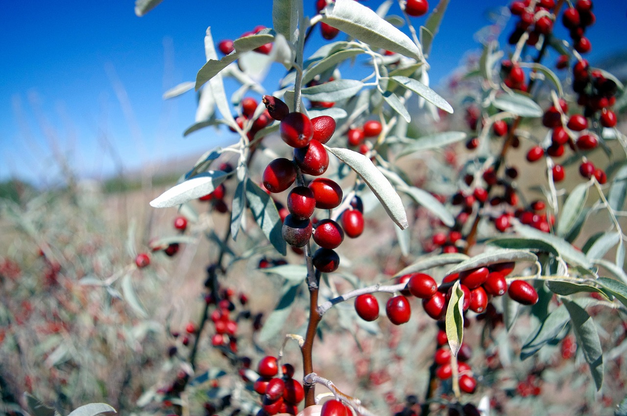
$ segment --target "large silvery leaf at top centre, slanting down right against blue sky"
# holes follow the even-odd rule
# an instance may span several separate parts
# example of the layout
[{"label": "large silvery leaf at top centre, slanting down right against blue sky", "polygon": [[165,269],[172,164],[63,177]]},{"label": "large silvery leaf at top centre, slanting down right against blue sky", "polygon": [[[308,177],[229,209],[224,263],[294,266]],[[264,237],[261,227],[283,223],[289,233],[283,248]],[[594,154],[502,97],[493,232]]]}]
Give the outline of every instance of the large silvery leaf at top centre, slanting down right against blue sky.
[{"label": "large silvery leaf at top centre, slanting down right against blue sky", "polygon": [[377,16],[374,11],[353,0],[337,0],[327,6],[324,23],[376,48],[398,52],[419,59],[421,52],[409,37]]}]

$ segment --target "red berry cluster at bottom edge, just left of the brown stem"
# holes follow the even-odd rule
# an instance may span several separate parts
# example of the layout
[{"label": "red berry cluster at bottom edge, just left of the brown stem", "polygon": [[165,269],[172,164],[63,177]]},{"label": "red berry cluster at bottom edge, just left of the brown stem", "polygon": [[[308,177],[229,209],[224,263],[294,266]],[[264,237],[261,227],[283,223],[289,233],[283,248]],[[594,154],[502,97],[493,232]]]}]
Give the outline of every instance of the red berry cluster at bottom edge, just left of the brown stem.
[{"label": "red berry cluster at bottom edge, just left of the brown stem", "polygon": [[294,367],[291,364],[283,364],[282,376],[278,376],[277,358],[265,356],[257,365],[259,378],[255,381],[253,389],[263,398],[261,410],[258,416],[276,415],[277,413],[298,413],[298,403],[305,398],[303,386],[294,380]]}]

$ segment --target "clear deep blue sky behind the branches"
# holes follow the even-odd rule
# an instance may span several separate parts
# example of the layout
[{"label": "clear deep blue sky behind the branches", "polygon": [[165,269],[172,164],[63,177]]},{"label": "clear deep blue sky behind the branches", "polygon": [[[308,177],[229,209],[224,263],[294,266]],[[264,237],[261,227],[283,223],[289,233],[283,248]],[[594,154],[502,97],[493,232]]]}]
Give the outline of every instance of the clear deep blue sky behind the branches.
[{"label": "clear deep blue sky behind the branches", "polygon": [[[310,15],[314,3],[305,0]],[[381,1],[363,3],[376,8]],[[594,9],[597,22],[587,33],[593,43],[587,58],[593,62],[627,49],[627,4],[598,3],[603,7]],[[485,11],[503,4],[451,0],[429,57],[434,83],[479,47],[473,34],[490,23]],[[399,13],[398,4],[391,13]],[[419,25],[424,18],[415,21]],[[183,138],[194,122],[194,94],[169,101],[161,96],[194,80],[204,63],[207,26],[218,41],[258,24],[271,26],[270,0],[164,0],[142,18],[135,16],[132,0],[1,2],[0,180],[17,175],[55,183],[55,152],[77,174],[102,177],[115,172],[115,157],[125,169],[135,169],[226,142],[228,132],[213,130]],[[311,51],[322,44],[319,31],[311,43]],[[269,91],[282,73],[277,65]],[[116,86],[122,86],[130,110],[124,110]]]}]

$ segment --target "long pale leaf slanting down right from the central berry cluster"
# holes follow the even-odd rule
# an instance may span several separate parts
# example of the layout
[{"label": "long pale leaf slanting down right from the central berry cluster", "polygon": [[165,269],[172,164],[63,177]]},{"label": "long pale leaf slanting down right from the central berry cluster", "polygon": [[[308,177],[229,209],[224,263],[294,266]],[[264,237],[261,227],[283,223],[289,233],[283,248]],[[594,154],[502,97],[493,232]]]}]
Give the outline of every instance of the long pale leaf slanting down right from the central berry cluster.
[{"label": "long pale leaf slanting down right from the central berry cluster", "polygon": [[372,160],[361,153],[353,152],[349,149],[326,146],[325,148],[333,153],[337,159],[342,160],[342,162],[357,172],[357,175],[370,187],[374,195],[379,199],[379,202],[381,202],[381,205],[383,205],[387,215],[390,216],[396,225],[401,227],[401,229],[406,229],[409,226],[401,197],[399,197],[392,184],[389,183],[381,171],[372,164]]}]

